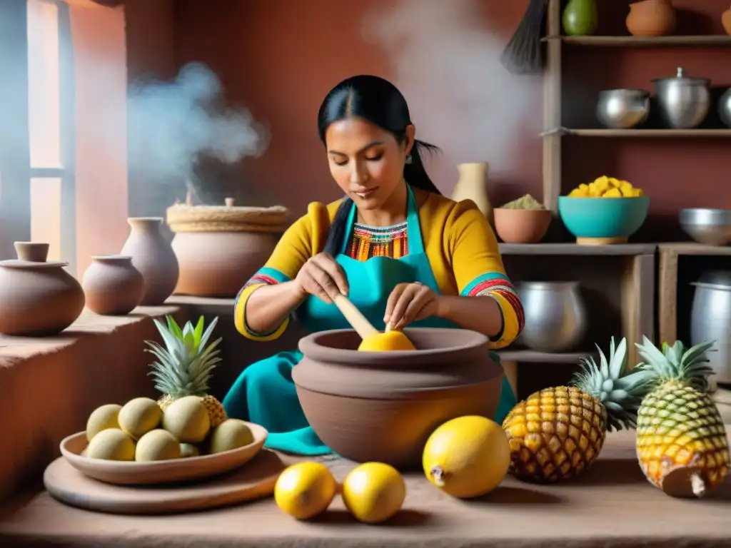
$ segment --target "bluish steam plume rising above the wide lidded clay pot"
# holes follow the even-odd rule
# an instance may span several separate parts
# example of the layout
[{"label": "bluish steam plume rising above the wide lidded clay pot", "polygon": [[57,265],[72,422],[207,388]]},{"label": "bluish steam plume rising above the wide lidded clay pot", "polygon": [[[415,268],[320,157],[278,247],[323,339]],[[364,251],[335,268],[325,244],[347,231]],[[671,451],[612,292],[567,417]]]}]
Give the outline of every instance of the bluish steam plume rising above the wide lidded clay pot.
[{"label": "bluish steam plume rising above the wide lidded clay pot", "polygon": [[235,164],[269,144],[248,110],[224,107],[221,82],[202,64],[183,66],[169,83],[132,85],[127,105],[130,171],[147,180],[183,183],[202,155]]}]

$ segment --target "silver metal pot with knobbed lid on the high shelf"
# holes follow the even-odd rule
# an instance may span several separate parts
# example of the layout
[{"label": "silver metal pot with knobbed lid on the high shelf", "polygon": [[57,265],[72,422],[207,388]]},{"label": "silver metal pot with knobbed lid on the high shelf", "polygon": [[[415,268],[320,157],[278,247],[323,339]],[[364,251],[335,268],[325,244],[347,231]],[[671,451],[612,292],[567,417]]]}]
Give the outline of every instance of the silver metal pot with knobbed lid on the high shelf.
[{"label": "silver metal pot with knobbed lid on the high shelf", "polygon": [[657,78],[655,85],[660,115],[674,129],[691,129],[699,126],[711,107],[711,80],[683,75],[678,67],[674,78]]}]

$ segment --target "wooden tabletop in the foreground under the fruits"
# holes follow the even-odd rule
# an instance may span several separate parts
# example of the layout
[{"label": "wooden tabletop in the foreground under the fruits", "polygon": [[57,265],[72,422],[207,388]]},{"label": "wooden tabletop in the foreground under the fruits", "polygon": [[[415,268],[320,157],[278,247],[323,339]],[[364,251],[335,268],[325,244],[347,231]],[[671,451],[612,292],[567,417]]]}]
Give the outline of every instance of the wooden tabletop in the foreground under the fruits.
[{"label": "wooden tabletop in the foreground under the fruits", "polygon": [[[729,430],[731,432],[731,428]],[[352,467],[330,462],[342,479]],[[505,479],[480,501],[457,501],[407,477],[404,510],[388,525],[352,520],[341,501],[296,522],[271,499],[197,514],[121,517],[73,509],[37,492],[0,513],[0,546],[206,547],[731,547],[731,476],[700,501],[667,497],[637,465],[633,433],[607,438],[585,476],[553,486]]]}]

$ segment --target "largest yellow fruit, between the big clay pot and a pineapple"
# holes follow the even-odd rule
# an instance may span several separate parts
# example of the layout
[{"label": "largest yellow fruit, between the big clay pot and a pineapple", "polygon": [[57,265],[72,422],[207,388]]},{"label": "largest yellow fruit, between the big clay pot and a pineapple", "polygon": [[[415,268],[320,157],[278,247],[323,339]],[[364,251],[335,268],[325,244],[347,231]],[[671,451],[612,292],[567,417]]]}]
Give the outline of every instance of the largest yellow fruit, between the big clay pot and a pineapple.
[{"label": "largest yellow fruit, between the big clay pot and a pineapple", "polygon": [[484,416],[461,416],[429,436],[422,464],[427,479],[448,495],[479,497],[505,477],[510,445],[496,422]]}]

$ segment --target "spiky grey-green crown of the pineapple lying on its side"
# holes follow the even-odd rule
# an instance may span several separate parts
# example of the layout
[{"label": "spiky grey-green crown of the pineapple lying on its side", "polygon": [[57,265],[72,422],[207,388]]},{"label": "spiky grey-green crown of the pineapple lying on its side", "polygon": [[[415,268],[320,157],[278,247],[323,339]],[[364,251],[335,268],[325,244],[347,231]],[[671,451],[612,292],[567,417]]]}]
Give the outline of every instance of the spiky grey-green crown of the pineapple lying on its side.
[{"label": "spiky grey-green crown of the pineapple lying on its side", "polygon": [[637,426],[637,409],[648,391],[652,375],[647,371],[627,368],[627,341],[609,344],[609,359],[599,345],[599,365],[594,357],[581,360],[581,370],[572,379],[572,386],[596,397],[607,410],[608,430],[622,430]]}]

